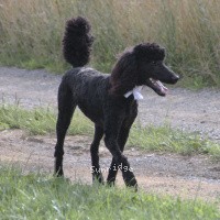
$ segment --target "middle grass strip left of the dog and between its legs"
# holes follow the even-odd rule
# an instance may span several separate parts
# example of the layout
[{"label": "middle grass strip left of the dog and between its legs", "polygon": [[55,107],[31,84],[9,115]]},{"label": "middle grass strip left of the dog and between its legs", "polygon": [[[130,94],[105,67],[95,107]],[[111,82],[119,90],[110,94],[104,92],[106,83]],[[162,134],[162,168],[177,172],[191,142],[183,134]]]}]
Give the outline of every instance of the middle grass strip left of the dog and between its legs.
[{"label": "middle grass strip left of the dog and between its legs", "polygon": [[[92,124],[79,111],[75,112],[68,133],[91,134]],[[30,135],[55,133],[56,113],[52,109],[37,108],[25,110],[19,106],[0,106],[0,130],[22,129]]]}]

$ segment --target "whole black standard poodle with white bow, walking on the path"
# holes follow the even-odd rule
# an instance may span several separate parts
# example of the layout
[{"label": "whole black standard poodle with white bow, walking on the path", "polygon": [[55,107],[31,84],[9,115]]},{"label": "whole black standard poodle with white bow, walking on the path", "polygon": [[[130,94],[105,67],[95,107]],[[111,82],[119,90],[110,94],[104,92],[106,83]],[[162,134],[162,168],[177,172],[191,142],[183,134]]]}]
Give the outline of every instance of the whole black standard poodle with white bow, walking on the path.
[{"label": "whole black standard poodle with white bow, walking on the path", "polygon": [[138,187],[123,150],[138,114],[138,99],[143,98],[140,88],[148,86],[157,95],[166,96],[167,88],[162,82],[176,84],[179,77],[165,66],[165,50],[155,43],[142,43],[124,51],[111,75],[85,67],[89,62],[92,43],[94,36],[86,19],[78,16],[67,21],[63,53],[73,68],[63,76],[58,89],[55,175],[64,175],[64,139],[78,106],[95,123],[90,146],[92,179],[103,183],[99,166],[99,143],[105,135],[105,144],[112,154],[107,183],[113,185],[118,169],[121,169],[125,185]]}]

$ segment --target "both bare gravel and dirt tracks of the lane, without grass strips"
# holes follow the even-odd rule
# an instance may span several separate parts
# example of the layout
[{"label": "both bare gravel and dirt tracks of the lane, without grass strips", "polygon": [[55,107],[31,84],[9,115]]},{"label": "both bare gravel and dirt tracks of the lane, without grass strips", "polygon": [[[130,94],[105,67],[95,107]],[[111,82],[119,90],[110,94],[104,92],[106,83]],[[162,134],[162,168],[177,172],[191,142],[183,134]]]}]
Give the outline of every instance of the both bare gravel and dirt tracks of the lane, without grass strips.
[{"label": "both bare gravel and dirt tracks of the lane, without grass strips", "polygon": [[[51,106],[56,108],[61,76],[43,70],[22,70],[0,67],[1,102],[19,101],[25,108]],[[138,120],[198,131],[220,140],[220,91],[191,92],[172,89],[167,98],[160,98],[148,89],[143,91]],[[68,136],[66,141],[65,172],[72,179],[91,183],[89,143],[87,136]],[[28,136],[22,131],[0,132],[0,161],[21,163],[24,170],[53,170],[54,136]],[[101,167],[107,173],[110,154],[100,150]],[[147,191],[206,198],[220,204],[220,162],[206,156],[143,154],[136,150],[125,152],[141,188]],[[119,175],[119,185],[122,185]]]}]

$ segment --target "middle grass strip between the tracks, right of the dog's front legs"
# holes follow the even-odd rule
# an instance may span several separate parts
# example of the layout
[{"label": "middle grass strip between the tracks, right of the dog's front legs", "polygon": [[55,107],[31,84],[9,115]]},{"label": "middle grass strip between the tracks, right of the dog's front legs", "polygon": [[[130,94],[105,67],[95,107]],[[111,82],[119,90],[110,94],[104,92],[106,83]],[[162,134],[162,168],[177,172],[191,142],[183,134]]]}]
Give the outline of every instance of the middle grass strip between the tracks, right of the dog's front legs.
[{"label": "middle grass strip between the tracks, right of the dog's front legs", "polygon": [[215,143],[198,133],[190,133],[170,125],[141,128],[134,125],[131,130],[129,144],[146,151],[170,152],[183,155],[209,154],[220,158],[220,144]]}]

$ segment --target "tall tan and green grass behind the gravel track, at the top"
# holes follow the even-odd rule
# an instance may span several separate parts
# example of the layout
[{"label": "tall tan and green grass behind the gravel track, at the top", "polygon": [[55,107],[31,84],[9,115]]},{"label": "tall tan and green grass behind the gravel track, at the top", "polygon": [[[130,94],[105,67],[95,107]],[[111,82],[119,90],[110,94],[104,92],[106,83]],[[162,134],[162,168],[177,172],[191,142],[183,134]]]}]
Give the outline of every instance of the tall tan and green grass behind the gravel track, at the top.
[{"label": "tall tan and green grass behind the gravel track, at the top", "polygon": [[157,42],[188,87],[220,85],[220,1],[0,1],[0,64],[63,73],[65,21],[85,15],[96,36],[91,65],[110,72],[116,55],[139,42]]}]

